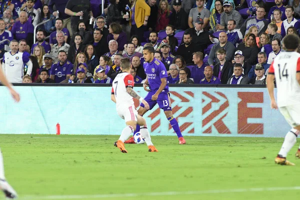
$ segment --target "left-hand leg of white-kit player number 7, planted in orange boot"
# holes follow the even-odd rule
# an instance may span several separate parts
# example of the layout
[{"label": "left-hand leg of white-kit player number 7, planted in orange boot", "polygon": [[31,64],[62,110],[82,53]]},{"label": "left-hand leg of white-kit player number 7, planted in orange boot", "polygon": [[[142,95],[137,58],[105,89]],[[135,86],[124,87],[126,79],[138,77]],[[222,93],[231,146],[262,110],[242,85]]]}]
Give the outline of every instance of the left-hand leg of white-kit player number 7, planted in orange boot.
[{"label": "left-hand leg of white-kit player number 7, planted in orange boot", "polygon": [[124,118],[126,127],[123,128],[119,139],[114,142],[114,145],[118,147],[121,152],[126,153],[127,150],[125,149],[124,141],[133,133],[134,129],[136,128],[137,112],[134,106],[129,106],[124,110],[118,111],[118,115],[121,118]]}]

